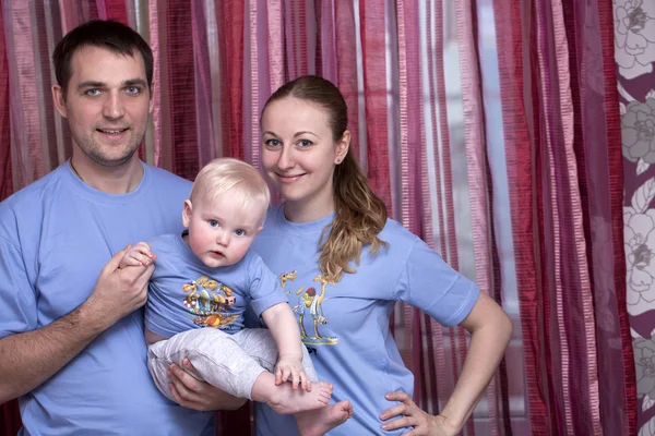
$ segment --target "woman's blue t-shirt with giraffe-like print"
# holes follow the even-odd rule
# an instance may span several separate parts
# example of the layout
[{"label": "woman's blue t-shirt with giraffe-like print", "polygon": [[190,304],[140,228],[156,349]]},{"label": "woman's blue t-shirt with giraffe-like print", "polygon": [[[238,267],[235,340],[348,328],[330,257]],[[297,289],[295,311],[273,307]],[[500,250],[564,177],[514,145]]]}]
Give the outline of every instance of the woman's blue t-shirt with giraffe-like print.
[{"label": "woman's blue t-shirt with giraffe-like print", "polygon": [[[252,250],[279,275],[319,379],[334,384],[334,401],[353,403],[353,417],[329,435],[400,435],[408,428],[384,432],[379,419],[395,404],[384,398],[386,392],[412,396],[414,390],[414,375],[403,364],[389,329],[395,302],[454,326],[473,308],[479,288],[391,219],[379,234],[388,249],[371,256],[365,247],[359,266],[352,265],[357,272],[344,274],[338,283],[325,282],[318,246],[333,218],[334,214],[294,223],[284,217],[282,206],[272,208]],[[254,407],[258,435],[297,435],[293,417],[277,415],[265,404]]]}]

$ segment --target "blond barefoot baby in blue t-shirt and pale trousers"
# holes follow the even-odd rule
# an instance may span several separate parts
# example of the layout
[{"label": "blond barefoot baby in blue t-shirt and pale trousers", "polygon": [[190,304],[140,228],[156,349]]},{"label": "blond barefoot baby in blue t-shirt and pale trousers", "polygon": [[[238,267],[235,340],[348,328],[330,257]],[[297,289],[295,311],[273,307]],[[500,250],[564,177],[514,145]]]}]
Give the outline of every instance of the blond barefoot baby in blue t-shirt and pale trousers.
[{"label": "blond barefoot baby in blue t-shirt and pale trousers", "polygon": [[[188,358],[194,377],[294,414],[301,435],[322,435],[353,409],[347,400],[327,405],[332,385],[318,380],[279,280],[249,251],[269,202],[258,170],[237,159],[215,159],[200,171],[184,202],[187,230],[135,244],[120,267],[155,263],[145,340],[150,372],[167,398],[174,400],[168,367]],[[248,305],[269,329],[243,327]]]}]

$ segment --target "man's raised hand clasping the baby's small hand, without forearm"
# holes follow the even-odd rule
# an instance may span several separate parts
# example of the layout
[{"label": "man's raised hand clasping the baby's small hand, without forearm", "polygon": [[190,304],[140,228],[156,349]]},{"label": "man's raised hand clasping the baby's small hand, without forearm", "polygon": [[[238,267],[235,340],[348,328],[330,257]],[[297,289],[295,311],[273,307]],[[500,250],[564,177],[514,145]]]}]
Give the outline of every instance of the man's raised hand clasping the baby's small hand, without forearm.
[{"label": "man's raised hand clasping the baby's small hand, without forearm", "polygon": [[92,319],[100,323],[97,327],[102,330],[143,306],[147,300],[147,283],[155,266],[151,263],[144,268],[119,268],[120,261],[131,247],[129,244],[109,259],[93,293],[82,305],[92,314]]}]

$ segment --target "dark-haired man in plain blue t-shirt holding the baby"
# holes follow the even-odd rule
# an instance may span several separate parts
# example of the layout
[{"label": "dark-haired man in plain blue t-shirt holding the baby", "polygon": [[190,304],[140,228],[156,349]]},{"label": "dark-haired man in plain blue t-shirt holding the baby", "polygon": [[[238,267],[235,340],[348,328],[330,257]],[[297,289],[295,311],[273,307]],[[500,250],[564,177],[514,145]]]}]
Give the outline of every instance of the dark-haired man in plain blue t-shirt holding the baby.
[{"label": "dark-haired man in plain blue t-shirt holding the baby", "polygon": [[[52,60],[72,158],[0,204],[0,403],[20,398],[21,434],[211,434],[212,413],[168,401],[147,372],[153,266],[118,268],[130,243],[181,230],[191,186],[135,153],[153,110],[152,51],[130,27],[95,21]],[[184,405],[242,403],[172,371]]]}]

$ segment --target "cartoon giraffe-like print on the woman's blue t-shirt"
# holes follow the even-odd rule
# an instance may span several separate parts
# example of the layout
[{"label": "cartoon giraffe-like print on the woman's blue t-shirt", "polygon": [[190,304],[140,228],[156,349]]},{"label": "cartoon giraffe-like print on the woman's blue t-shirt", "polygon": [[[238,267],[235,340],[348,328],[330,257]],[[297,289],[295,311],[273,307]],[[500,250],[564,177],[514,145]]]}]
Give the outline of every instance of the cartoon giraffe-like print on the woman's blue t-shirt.
[{"label": "cartoon giraffe-like print on the woman's blue t-shirt", "polygon": [[[288,281],[296,281],[297,271],[284,272],[279,276],[282,283],[282,290],[285,290]],[[326,325],[327,318],[323,315],[323,302],[327,300],[325,298],[325,291],[327,284],[334,284],[325,279],[323,276],[314,277],[320,290],[317,292],[315,287],[311,286],[307,289],[299,288],[296,291],[289,290],[285,294],[297,299],[297,304],[293,304],[291,308],[298,316],[298,325],[300,326],[300,338],[302,343],[306,346],[334,346],[338,342],[338,338],[334,336],[322,336],[320,332],[320,325]],[[295,288],[295,287],[294,287]],[[309,318],[307,314],[309,312]]]}]

